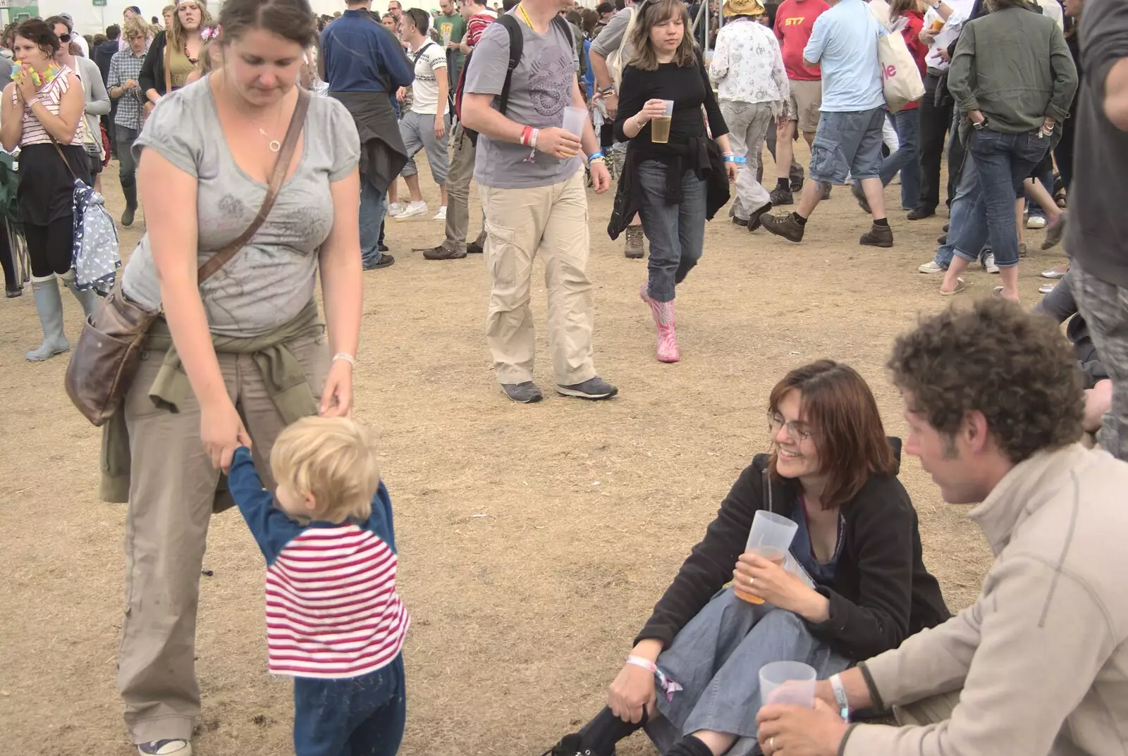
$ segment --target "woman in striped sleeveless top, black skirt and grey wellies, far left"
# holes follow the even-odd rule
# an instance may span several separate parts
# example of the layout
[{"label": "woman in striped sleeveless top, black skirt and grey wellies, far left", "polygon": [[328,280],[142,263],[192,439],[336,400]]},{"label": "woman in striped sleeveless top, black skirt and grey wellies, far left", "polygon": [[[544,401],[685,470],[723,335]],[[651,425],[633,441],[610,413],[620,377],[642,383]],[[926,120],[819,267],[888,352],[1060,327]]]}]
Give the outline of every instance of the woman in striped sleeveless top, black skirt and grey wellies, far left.
[{"label": "woman in striped sleeveless top, black skirt and grey wellies, far left", "polygon": [[43,344],[27,353],[33,362],[70,349],[55,276],[83,310],[96,301],[92,292],[74,287],[71,269],[74,179],[89,184],[90,166],[78,136],[86,96],[74,72],[55,62],[59,46],[59,36],[44,21],[30,19],[16,27],[19,69],[17,79],[5,87],[0,105],[0,142],[9,152],[19,148],[19,215],[43,326]]}]

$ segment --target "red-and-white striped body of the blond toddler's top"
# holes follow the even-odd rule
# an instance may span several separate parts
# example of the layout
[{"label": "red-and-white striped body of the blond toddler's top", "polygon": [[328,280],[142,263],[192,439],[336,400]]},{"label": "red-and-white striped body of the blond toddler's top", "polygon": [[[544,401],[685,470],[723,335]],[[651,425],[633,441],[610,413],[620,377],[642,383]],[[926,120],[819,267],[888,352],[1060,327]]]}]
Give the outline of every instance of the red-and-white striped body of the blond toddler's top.
[{"label": "red-and-white striped body of the blond toddler's top", "polygon": [[396,566],[379,535],[350,523],[290,541],[266,569],[271,673],[358,677],[390,664],[409,624]]}]

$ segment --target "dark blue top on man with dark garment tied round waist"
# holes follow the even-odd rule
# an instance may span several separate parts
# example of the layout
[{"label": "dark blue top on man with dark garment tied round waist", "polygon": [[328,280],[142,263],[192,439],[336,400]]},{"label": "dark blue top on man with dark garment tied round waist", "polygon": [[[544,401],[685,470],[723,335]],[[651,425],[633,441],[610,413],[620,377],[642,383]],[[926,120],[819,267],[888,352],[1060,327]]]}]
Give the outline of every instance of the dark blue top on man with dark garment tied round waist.
[{"label": "dark blue top on man with dark garment tied round waist", "polygon": [[415,81],[415,66],[396,36],[368,10],[346,10],[321,32],[331,92],[388,92]]}]

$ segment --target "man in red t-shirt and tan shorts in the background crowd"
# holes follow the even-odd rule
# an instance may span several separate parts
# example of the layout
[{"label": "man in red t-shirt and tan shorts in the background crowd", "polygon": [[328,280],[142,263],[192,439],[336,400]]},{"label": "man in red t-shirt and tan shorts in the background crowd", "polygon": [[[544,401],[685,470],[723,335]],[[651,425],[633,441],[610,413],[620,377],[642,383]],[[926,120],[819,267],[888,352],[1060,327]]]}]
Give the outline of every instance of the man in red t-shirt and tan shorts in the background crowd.
[{"label": "man in red t-shirt and tan shorts in the background crowd", "polygon": [[[790,205],[794,202],[787,177],[794,154],[792,140],[795,127],[803,132],[808,145],[814,141],[819,126],[819,108],[822,106],[822,73],[819,66],[803,64],[803,48],[811,38],[814,19],[828,10],[825,0],[784,0],[776,9],[775,33],[783,53],[783,65],[787,70],[791,85],[791,100],[787,113],[779,116],[776,130],[776,188],[772,190],[772,204]],[[826,188],[829,188],[826,187]]]}]

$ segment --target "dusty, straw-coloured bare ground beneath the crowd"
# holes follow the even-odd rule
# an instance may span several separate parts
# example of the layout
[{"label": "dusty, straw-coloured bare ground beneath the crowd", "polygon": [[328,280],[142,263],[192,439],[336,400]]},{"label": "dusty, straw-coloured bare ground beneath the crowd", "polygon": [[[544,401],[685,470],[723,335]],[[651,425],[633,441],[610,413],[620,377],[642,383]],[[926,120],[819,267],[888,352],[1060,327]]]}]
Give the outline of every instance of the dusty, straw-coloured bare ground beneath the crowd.
[{"label": "dusty, straw-coloured bare ground beneath the crowd", "polygon": [[[116,216],[115,166],[104,188]],[[433,210],[438,193],[423,174]],[[891,212],[889,250],[857,246],[867,220],[843,188],[802,244],[713,222],[702,265],[678,292],[682,362],[662,365],[636,294],[644,263],[608,240],[610,195],[589,199],[596,358],[622,391],[610,402],[552,393],[518,406],[500,393],[483,337],[483,261],[413,252],[442,238],[430,214],[389,221],[397,263],[364,274],[356,417],[379,439],[414,617],[405,756],[536,756],[594,713],[653,602],[738,472],[767,448],[766,399],[788,368],[851,363],[888,432],[905,432],[883,363],[918,311],[944,304],[938,278],[916,272],[944,217],[913,223]],[[123,230],[123,251],[140,228]],[[1037,249],[1040,232],[1028,234]],[[1030,304],[1038,272],[1063,261],[1037,251],[1023,261]],[[976,267],[964,296],[988,295],[995,281]],[[64,302],[73,338],[80,311]],[[543,324],[539,283],[532,306]],[[0,304],[0,751],[126,756],[114,686],[125,508],[96,499],[99,434],[63,393],[67,357],[24,361],[38,341],[29,290]],[[539,346],[537,379],[548,389],[544,328]],[[901,479],[925,561],[962,607],[988,563],[985,543],[915,460]],[[205,568],[196,753],[284,754],[291,685],[266,674],[263,558],[237,513],[213,519]],[[653,749],[636,737],[620,754]]]}]

